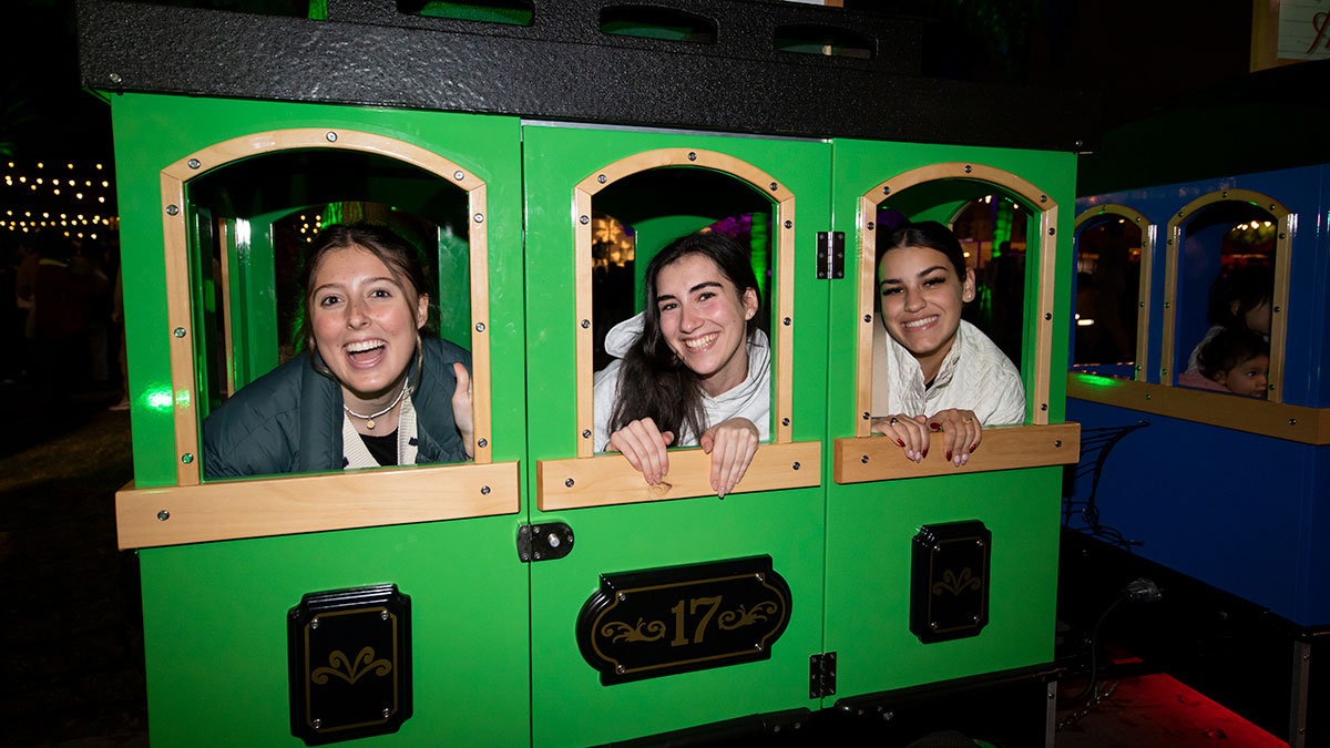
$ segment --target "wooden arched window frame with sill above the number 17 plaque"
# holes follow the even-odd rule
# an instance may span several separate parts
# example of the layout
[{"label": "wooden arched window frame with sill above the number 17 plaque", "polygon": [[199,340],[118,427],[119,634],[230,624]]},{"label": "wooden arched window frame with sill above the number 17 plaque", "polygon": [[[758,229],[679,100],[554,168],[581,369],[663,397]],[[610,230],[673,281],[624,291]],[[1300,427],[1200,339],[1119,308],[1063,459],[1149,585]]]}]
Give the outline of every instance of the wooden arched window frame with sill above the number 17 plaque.
[{"label": "wooden arched window frame with sill above the number 17 plaque", "polygon": [[795,488],[821,483],[821,442],[794,442],[794,194],[757,166],[712,150],[661,148],[628,156],[597,169],[573,188],[573,285],[576,317],[571,321],[577,346],[577,457],[536,463],[537,507],[541,511],[652,502],[713,495],[710,457],[701,450],[670,454],[670,482],[646,486],[620,455],[595,457],[592,418],[592,197],[618,180],[665,166],[709,169],[749,184],[774,202],[775,318],[773,321],[771,398],[773,439],[761,445],[738,491]]}]

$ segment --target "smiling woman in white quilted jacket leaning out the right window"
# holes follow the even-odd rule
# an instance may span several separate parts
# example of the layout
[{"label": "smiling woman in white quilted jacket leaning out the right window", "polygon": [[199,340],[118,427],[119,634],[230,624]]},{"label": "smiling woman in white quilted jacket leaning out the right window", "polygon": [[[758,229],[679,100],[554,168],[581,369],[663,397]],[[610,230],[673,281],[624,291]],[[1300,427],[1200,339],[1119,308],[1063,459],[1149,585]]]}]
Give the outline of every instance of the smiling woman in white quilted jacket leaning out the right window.
[{"label": "smiling woman in white quilted jacket leaning out the right window", "polygon": [[966,465],[983,426],[1021,423],[1020,373],[978,327],[960,318],[975,298],[975,272],[950,229],[908,224],[878,242],[879,313],[872,341],[872,431],[908,459],[928,455],[931,431]]}]

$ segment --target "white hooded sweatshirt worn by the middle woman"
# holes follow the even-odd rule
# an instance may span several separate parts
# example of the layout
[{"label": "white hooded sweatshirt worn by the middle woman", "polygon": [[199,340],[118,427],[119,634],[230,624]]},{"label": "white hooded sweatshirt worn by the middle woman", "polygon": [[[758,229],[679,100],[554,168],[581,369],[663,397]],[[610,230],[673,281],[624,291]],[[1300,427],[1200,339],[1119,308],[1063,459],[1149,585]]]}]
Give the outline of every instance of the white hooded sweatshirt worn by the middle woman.
[{"label": "white hooded sweatshirt worn by the middle woman", "polygon": [[[596,373],[592,386],[592,415],[596,423],[596,451],[609,449],[609,417],[618,402],[620,361],[642,334],[642,315],[624,319],[605,335],[605,353],[614,357],[609,366]],[[757,330],[747,345],[749,373],[738,386],[717,397],[702,393],[705,425],[730,418],[747,418],[757,426],[758,439],[771,438],[771,346],[766,334]],[[684,427],[686,430],[686,426]],[[701,434],[677,434],[672,446],[697,446]]]}]

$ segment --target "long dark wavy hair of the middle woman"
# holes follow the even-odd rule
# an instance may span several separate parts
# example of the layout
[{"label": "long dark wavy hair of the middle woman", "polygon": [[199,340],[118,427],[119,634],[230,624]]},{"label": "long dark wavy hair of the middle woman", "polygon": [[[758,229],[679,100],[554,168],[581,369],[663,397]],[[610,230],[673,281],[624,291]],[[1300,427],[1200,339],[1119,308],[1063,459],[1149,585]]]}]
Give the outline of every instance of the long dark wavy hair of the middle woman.
[{"label": "long dark wavy hair of the middle woman", "polygon": [[[674,355],[661,335],[661,314],[656,305],[658,293],[656,283],[661,270],[689,254],[701,254],[716,262],[741,298],[747,289],[757,291],[757,276],[753,274],[747,250],[724,234],[712,232],[680,237],[653,257],[646,266],[642,334],[624,355],[618,371],[618,402],[614,403],[614,411],[609,418],[610,431],[617,431],[640,418],[650,418],[661,431],[673,431],[676,439],[682,438],[685,426],[694,437],[706,430],[702,382]],[[757,318],[754,314],[747,321],[743,355],[747,355],[746,345],[751,343],[753,333],[757,330]]]}]

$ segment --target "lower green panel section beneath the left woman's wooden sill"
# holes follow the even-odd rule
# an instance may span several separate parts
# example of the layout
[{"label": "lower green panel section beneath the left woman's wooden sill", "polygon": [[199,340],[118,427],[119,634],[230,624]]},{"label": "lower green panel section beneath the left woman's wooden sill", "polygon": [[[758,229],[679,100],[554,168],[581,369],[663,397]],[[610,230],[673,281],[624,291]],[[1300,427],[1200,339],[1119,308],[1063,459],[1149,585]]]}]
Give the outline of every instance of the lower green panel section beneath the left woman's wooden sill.
[{"label": "lower green panel section beneath the left woman's wooden sill", "polygon": [[411,596],[407,745],[529,740],[527,567],[515,518],[149,548],[140,554],[153,745],[303,745],[290,733],[286,614],[306,592]]}]

